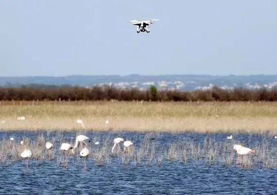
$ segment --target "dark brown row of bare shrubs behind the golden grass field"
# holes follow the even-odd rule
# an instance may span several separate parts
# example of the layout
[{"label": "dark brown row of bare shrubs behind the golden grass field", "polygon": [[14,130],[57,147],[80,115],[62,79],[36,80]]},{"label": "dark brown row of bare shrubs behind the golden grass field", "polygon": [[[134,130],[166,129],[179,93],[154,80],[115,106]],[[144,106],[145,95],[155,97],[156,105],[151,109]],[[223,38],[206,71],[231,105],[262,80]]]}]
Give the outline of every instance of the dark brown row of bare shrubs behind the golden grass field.
[{"label": "dark brown row of bare shrubs behind the golden grass field", "polygon": [[277,89],[232,90],[213,87],[209,90],[178,91],[118,89],[112,86],[92,88],[78,86],[22,86],[0,87],[0,100],[119,100],[119,101],[277,101]]}]

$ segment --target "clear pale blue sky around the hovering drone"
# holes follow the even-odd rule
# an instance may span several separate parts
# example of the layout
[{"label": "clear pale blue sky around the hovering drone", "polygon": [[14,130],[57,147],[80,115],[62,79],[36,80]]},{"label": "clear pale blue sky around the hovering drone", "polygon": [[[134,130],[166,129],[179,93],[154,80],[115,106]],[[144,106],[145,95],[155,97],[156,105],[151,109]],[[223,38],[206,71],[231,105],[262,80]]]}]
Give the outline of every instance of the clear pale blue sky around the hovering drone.
[{"label": "clear pale blue sky around the hovering drone", "polygon": [[0,76],[128,74],[277,74],[277,1],[0,0]]}]

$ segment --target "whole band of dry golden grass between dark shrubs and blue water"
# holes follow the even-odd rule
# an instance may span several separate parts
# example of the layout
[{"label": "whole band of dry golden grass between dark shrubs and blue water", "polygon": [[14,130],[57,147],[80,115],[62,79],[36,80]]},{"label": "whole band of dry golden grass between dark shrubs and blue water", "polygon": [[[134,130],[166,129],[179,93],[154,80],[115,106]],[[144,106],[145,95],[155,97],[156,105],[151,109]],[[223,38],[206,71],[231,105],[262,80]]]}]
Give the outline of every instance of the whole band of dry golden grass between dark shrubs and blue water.
[{"label": "whole band of dry golden grass between dark shrubs and blue water", "polygon": [[0,102],[1,130],[81,130],[77,119],[87,130],[276,134],[277,102]]}]

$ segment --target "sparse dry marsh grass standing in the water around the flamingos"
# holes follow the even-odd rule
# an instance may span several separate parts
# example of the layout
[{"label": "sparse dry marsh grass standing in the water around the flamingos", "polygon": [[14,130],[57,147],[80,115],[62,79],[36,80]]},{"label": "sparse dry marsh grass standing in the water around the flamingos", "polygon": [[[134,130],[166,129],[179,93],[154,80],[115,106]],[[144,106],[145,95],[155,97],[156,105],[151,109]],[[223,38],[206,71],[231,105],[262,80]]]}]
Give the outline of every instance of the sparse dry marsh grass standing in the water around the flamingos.
[{"label": "sparse dry marsh grass standing in the water around the flamingos", "polygon": [[[223,165],[235,166],[240,168],[277,168],[277,147],[268,143],[268,140],[262,139],[260,145],[254,145],[252,148],[256,150],[254,154],[240,156],[233,150],[234,144],[240,144],[234,140],[216,141],[208,136],[203,143],[195,140],[175,141],[165,145],[162,142],[152,139],[152,134],[146,134],[140,140],[140,144],[135,144],[123,153],[122,149],[117,153],[111,153],[113,145],[112,139],[106,137],[101,141],[100,145],[89,144],[90,154],[84,159],[80,158],[77,149],[75,153],[68,152],[68,158],[65,153],[59,150],[59,146],[64,140],[62,134],[58,138],[52,138],[51,142],[54,147],[51,150],[45,148],[47,137],[38,135],[36,139],[30,140],[24,138],[24,144],[20,145],[16,141],[7,139],[0,140],[0,165],[9,164],[11,162],[23,161],[20,153],[31,148],[33,152],[32,162],[35,164],[43,164],[45,161],[56,162],[58,166],[68,167],[78,164],[93,163],[97,166],[111,166],[121,164],[124,166],[162,166],[164,163],[182,162],[184,165],[188,163],[202,163],[207,165]],[[99,140],[100,138],[97,138]],[[71,144],[73,144],[71,139]]]}]

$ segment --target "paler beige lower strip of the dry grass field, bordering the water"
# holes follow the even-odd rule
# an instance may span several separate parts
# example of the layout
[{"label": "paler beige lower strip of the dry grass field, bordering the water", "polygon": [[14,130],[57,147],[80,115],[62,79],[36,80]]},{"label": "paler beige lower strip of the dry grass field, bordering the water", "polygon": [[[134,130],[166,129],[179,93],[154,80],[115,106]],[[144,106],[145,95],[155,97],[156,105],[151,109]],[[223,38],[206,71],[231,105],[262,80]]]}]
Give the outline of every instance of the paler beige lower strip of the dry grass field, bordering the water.
[{"label": "paler beige lower strip of the dry grass field, bordering the water", "polygon": [[[50,130],[83,131],[76,123],[77,118],[28,118],[17,121],[7,118],[0,124],[1,131]],[[277,134],[277,118],[82,118],[87,131],[134,131],[134,132],[197,132],[197,133],[265,133]]]}]

